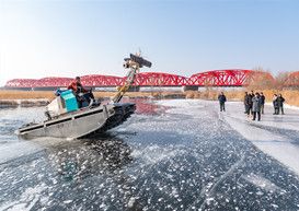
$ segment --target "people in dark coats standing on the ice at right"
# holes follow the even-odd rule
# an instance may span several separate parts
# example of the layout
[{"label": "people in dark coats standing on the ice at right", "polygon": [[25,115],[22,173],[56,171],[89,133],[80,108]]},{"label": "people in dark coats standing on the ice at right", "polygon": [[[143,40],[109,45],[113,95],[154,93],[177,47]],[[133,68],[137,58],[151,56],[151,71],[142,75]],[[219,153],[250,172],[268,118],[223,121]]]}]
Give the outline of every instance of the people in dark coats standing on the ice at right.
[{"label": "people in dark coats standing on the ice at right", "polygon": [[[223,94],[223,92],[221,92],[218,95],[218,101],[220,104],[220,112],[226,112],[226,102],[227,102],[227,97]],[[263,94],[263,92],[258,93],[254,93],[253,91],[251,91],[251,93],[245,92],[244,95],[244,107],[245,107],[245,112],[244,114],[248,115],[248,117],[252,117],[252,120],[257,119],[257,121],[261,120],[261,116],[264,114],[264,107],[265,107],[265,95]],[[273,106],[274,106],[274,114],[273,115],[284,115],[284,102],[285,98],[283,97],[281,94],[274,94],[273,96]]]}]

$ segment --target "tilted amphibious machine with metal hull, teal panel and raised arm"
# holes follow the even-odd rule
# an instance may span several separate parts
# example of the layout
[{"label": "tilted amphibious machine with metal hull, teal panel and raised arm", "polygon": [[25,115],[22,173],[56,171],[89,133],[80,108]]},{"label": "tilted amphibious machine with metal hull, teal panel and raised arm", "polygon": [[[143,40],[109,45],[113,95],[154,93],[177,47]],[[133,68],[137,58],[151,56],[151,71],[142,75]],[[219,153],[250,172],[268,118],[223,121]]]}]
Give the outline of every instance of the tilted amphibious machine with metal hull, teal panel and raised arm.
[{"label": "tilted amphibious machine with metal hull, teal panel and raised arm", "polygon": [[95,136],[120,125],[136,109],[134,103],[120,103],[120,99],[143,66],[150,68],[151,62],[139,55],[130,54],[129,58],[125,58],[124,68],[129,69],[127,78],[116,95],[105,105],[96,103],[79,108],[71,90],[59,93],[46,108],[48,119],[19,128],[19,136],[24,139],[35,137],[78,139]]}]

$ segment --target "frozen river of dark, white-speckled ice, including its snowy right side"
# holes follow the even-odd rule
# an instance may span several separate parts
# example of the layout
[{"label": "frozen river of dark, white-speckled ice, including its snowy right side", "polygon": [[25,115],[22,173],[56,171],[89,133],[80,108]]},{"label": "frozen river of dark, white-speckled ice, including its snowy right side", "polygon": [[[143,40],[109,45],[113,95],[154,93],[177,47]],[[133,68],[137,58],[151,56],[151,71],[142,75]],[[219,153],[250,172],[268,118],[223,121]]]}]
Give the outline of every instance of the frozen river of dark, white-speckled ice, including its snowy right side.
[{"label": "frozen river of dark, white-speckled ice, including its snowy right side", "polygon": [[43,108],[0,109],[0,210],[299,210],[299,112],[139,102],[93,140],[19,140]]}]

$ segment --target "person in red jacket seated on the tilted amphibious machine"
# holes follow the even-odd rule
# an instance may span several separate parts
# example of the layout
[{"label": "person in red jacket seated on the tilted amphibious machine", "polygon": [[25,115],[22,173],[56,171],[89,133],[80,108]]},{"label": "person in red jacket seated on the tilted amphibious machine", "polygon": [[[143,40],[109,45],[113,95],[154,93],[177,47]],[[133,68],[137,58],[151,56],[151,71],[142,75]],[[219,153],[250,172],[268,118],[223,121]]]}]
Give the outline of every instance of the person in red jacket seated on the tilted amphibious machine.
[{"label": "person in red jacket seated on the tilted amphibious machine", "polygon": [[83,87],[80,77],[76,77],[76,80],[69,84],[68,90],[73,91],[78,99],[79,107],[82,107],[84,99],[88,101],[90,105],[94,102],[94,96],[91,92],[91,89],[88,90]]}]

